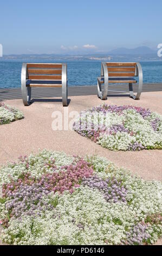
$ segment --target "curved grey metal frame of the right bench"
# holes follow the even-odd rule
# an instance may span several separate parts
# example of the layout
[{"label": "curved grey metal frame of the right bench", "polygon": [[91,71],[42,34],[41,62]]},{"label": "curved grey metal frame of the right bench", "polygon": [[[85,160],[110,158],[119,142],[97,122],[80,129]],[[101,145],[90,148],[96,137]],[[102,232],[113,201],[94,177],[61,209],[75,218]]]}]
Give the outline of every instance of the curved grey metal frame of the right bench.
[{"label": "curved grey metal frame of the right bench", "polygon": [[[139,84],[138,84],[138,92],[137,95],[134,95],[133,93],[133,83],[128,83],[129,84],[129,93],[130,97],[132,97],[134,100],[139,100],[141,92],[142,92],[142,85],[143,85],[143,74],[142,74],[142,68],[139,62],[136,63],[135,65],[135,74],[134,76],[139,77]],[[112,77],[111,77],[112,78]],[[124,77],[122,77],[124,78]],[[102,92],[101,89],[101,84],[104,81],[104,89]],[[115,77],[114,77],[115,80]],[[101,64],[101,77],[98,77],[98,97],[101,100],[106,100],[107,99],[107,94],[108,94],[108,83],[111,83],[111,81],[108,80],[108,66],[106,63]],[[119,82],[120,83],[120,82]]]}]

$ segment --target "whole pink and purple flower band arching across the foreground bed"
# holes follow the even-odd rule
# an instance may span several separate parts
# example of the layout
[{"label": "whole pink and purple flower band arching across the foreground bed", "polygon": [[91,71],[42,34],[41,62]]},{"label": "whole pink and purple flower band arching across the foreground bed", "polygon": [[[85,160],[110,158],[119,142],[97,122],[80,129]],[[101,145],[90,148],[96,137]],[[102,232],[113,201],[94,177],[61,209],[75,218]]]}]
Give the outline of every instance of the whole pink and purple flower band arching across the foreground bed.
[{"label": "whole pink and purple flower band arching across the foreground bed", "polygon": [[[21,162],[27,162],[27,157],[20,157]],[[80,185],[97,188],[104,194],[107,202],[126,203],[127,191],[122,182],[115,178],[102,180],[93,175],[93,166],[87,161],[75,157],[74,163],[69,166],[62,166],[56,172],[55,162],[53,173],[45,173],[40,179],[33,178],[30,173],[23,173],[22,178],[3,185],[3,198],[8,198],[5,208],[10,212],[9,218],[21,218],[23,215],[40,216],[45,210],[52,210],[54,205],[43,201],[43,196],[50,192],[64,191],[74,192],[74,188]],[[2,224],[8,227],[9,218],[2,220]]]}]

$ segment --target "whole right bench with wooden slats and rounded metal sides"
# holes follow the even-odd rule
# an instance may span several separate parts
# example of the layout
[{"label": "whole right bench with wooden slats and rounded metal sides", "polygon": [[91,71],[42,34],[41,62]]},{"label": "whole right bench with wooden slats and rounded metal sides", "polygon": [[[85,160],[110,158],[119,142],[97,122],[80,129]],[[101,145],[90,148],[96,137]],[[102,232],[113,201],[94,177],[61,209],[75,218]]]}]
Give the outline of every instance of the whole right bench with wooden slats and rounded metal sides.
[{"label": "whole right bench with wooden slats and rounded metal sides", "polygon": [[[133,83],[137,83],[134,79],[139,77],[137,95],[133,93]],[[130,97],[139,100],[142,92],[143,75],[140,63],[135,62],[106,62],[101,64],[101,77],[98,77],[98,97],[101,100],[107,99],[109,83],[128,83]],[[103,92],[101,85],[104,84]]]}]

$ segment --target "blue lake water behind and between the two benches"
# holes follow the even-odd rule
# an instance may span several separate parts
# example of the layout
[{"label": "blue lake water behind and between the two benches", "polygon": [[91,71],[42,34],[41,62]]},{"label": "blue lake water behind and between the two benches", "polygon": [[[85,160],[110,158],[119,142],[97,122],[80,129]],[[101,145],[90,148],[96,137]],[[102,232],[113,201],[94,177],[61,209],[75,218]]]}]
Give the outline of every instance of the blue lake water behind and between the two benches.
[{"label": "blue lake water behind and between the two benches", "polygon": [[[44,62],[44,60],[40,60],[41,62]],[[53,61],[53,63],[56,62]],[[96,84],[96,77],[100,76],[101,62],[96,60],[74,60],[66,63],[68,64],[68,86]],[[141,66],[144,83],[162,83],[161,61],[141,62]],[[0,88],[21,87],[21,68],[22,61],[2,61],[0,59]]]}]

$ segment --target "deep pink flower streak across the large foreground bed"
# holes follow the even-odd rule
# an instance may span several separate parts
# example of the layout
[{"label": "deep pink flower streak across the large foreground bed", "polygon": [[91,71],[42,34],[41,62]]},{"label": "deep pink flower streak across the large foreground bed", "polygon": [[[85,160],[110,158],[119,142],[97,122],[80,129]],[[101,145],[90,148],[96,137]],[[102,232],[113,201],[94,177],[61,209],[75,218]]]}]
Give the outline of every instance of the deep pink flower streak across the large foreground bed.
[{"label": "deep pink flower streak across the large foreground bed", "polygon": [[[62,166],[60,172],[55,172],[56,167],[54,166],[53,173],[46,173],[41,176],[41,179],[35,180],[28,174],[22,175],[22,179],[18,181],[12,181],[9,184],[3,185],[3,197],[14,198],[14,194],[20,192],[22,185],[35,186],[37,191],[40,191],[40,187],[44,188],[43,192],[58,191],[63,193],[65,190],[69,190],[73,193],[73,187],[78,187],[80,181],[83,178],[89,178],[93,174],[93,167],[83,159],[77,160],[76,164],[70,164],[69,166]],[[65,170],[64,170],[65,169]]]}]

